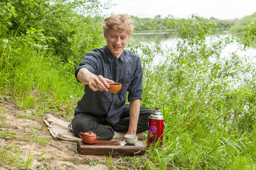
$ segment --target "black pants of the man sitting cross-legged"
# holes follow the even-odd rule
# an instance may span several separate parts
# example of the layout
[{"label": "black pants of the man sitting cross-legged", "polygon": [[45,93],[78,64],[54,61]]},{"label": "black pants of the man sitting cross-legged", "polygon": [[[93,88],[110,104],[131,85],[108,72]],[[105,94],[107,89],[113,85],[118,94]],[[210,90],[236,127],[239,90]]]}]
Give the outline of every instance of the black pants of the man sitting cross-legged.
[{"label": "black pants of the man sitting cross-legged", "polygon": [[[148,130],[149,115],[153,113],[150,108],[140,107],[139,110],[139,121],[137,126],[137,133]],[[102,121],[95,115],[88,113],[78,113],[73,118],[72,122],[73,133],[79,137],[80,132],[94,132],[99,140],[112,140],[114,131],[116,132],[127,132],[129,128],[129,105],[124,107],[124,111],[121,116],[121,120],[112,128],[107,128],[107,121]]]}]

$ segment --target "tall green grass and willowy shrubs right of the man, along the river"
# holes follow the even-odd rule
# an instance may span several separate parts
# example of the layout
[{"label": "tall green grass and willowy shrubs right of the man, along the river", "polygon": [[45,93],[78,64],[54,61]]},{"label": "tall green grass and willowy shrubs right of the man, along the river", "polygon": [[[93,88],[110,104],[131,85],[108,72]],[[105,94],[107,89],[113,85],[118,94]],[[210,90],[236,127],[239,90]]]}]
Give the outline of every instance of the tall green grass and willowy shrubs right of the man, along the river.
[{"label": "tall green grass and willowy shrubs right of the man, along the river", "polygon": [[130,47],[142,55],[142,105],[161,106],[166,123],[164,145],[149,147],[144,166],[255,168],[255,66],[235,52],[220,57],[239,40],[209,36],[215,26],[207,20],[192,16],[166,21],[177,28],[176,48],[159,50],[158,43]]}]

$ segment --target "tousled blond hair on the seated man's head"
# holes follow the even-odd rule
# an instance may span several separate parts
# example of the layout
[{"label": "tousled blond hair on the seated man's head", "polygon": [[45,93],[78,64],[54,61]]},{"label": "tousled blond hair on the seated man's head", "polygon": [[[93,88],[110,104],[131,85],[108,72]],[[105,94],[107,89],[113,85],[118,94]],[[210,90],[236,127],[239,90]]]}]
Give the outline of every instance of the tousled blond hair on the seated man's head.
[{"label": "tousled blond hair on the seated man's head", "polygon": [[109,18],[106,18],[103,23],[103,30],[122,30],[131,34],[134,29],[134,23],[132,18],[127,14],[112,14]]}]

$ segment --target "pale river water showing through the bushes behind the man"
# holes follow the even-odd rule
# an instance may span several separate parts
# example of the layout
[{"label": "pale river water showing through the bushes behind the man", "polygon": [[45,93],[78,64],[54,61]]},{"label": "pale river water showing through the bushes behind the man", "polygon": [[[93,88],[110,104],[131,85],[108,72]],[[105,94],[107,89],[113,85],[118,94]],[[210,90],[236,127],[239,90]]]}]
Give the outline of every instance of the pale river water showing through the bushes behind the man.
[{"label": "pale river water showing through the bushes behind the man", "polygon": [[[220,38],[225,38],[231,36],[229,34],[222,34],[220,35]],[[131,40],[138,40],[139,42],[147,42],[149,40],[159,40],[161,42],[161,48],[163,50],[171,49],[172,51],[176,51],[176,44],[178,42],[178,38],[176,35],[169,35],[168,31],[161,31],[161,32],[141,32],[141,33],[134,33],[132,34]],[[216,35],[210,35],[206,38],[206,44],[212,45],[214,40],[219,40],[218,36]],[[217,59],[215,57],[210,56],[209,60],[212,63],[215,62],[223,62],[230,60],[232,57],[232,53],[235,53],[239,57],[239,59],[242,61],[243,67],[247,67],[250,65],[250,70],[247,70],[247,72],[243,74],[238,74],[238,77],[240,79],[254,79],[255,71],[256,70],[256,48],[255,47],[249,47],[246,50],[242,50],[243,45],[239,44],[238,42],[233,42],[228,44],[224,47],[223,50],[221,50],[220,53],[220,59]],[[140,54],[139,54],[140,55]],[[156,56],[154,57],[153,65],[157,65],[164,61],[163,56]],[[244,81],[238,81],[235,79],[235,81],[230,83],[230,86],[233,86],[233,88],[238,87],[240,84],[244,84]]]}]

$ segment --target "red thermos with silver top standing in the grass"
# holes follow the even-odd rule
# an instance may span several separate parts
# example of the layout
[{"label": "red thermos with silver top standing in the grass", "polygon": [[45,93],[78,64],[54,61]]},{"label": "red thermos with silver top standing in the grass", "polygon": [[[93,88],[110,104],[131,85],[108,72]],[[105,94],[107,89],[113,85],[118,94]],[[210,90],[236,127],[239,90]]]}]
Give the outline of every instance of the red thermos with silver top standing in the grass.
[{"label": "red thermos with silver top standing in the grass", "polygon": [[149,135],[147,146],[152,142],[159,140],[159,145],[162,145],[164,130],[164,116],[161,114],[160,108],[155,108],[154,113],[149,116]]}]

